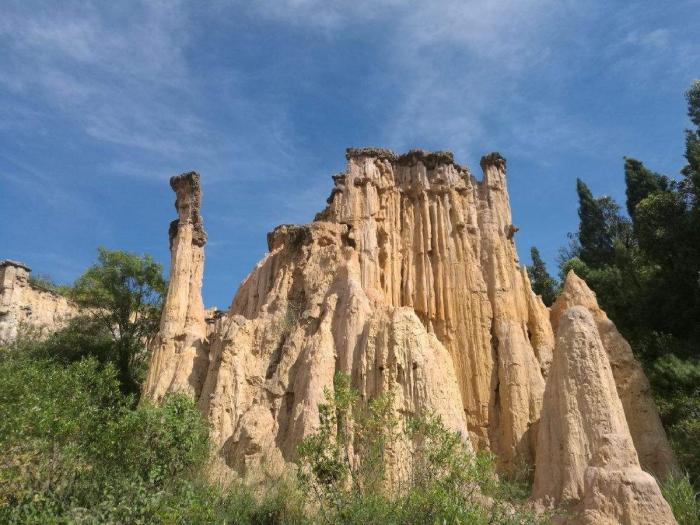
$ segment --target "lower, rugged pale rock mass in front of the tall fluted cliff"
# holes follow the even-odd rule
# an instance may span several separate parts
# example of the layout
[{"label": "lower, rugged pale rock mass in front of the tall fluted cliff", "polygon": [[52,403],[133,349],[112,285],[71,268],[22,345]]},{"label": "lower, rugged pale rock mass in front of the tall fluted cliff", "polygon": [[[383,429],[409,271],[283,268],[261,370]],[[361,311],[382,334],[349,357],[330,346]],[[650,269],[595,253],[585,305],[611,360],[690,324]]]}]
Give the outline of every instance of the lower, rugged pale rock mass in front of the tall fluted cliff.
[{"label": "lower, rugged pale rock mass in front of the tall fluted cliff", "polygon": [[[337,371],[362,399],[392,392],[398,413],[435,412],[467,439],[449,353],[412,310],[367,296],[346,234],[326,222],[277,228],[270,253],[217,321],[199,405],[222,458],[240,472],[263,461],[275,471],[296,457]],[[264,432],[252,427],[260,427],[255,414],[265,414]],[[409,464],[397,455],[388,470],[400,476]]]}]

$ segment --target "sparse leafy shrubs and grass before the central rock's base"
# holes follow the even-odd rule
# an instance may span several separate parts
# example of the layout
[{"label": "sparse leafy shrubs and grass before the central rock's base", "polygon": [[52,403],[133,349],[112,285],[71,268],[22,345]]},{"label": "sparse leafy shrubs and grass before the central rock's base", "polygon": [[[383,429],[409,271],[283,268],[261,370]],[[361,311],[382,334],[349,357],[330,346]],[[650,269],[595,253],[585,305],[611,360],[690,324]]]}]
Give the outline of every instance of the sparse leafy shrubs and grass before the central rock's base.
[{"label": "sparse leafy shrubs and grass before the central rock's base", "polygon": [[[401,428],[391,395],[360,405],[342,374],[336,375],[333,392],[326,392],[319,410],[318,432],[299,446],[299,475],[324,523],[547,520],[520,508],[512,487],[499,481],[493,457],[472,453],[464,438],[438,417],[409,420]],[[411,450],[405,479],[385,470],[386,459],[400,447]]]}]

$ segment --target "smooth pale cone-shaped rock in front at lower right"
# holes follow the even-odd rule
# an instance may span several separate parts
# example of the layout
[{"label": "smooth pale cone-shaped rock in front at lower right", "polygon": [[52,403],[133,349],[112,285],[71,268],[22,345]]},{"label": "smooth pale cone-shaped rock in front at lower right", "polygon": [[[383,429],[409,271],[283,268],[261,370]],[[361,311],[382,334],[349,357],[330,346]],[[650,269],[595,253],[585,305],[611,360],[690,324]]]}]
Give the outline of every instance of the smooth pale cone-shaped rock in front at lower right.
[{"label": "smooth pale cone-shaped rock in front at lower right", "polygon": [[542,406],[533,497],[571,512],[570,523],[674,524],[644,472],[590,311],[559,316]]}]

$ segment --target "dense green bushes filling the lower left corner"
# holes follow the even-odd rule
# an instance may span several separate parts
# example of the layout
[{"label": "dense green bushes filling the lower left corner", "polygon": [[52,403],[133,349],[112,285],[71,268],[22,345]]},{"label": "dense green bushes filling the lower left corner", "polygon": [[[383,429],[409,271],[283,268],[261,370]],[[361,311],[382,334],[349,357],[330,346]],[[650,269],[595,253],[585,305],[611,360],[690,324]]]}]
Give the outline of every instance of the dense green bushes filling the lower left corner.
[{"label": "dense green bushes filling the lower left corner", "polygon": [[0,522],[150,522],[165,487],[204,462],[194,403],[132,410],[111,365],[0,358]]}]

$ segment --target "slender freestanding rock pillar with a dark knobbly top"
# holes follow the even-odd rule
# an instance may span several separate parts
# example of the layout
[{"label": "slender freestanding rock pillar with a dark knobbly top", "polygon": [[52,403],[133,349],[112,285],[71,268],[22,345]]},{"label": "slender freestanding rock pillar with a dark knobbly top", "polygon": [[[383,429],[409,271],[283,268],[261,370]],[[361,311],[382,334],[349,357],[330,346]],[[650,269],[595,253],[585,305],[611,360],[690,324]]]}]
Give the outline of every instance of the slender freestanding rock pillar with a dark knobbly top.
[{"label": "slender freestanding rock pillar with a dark knobbly top", "polygon": [[199,214],[199,175],[170,179],[178,218],[170,224],[170,281],[160,329],[151,345],[144,395],[159,400],[169,391],[198,396],[208,366],[207,322],[202,302],[204,232]]}]

